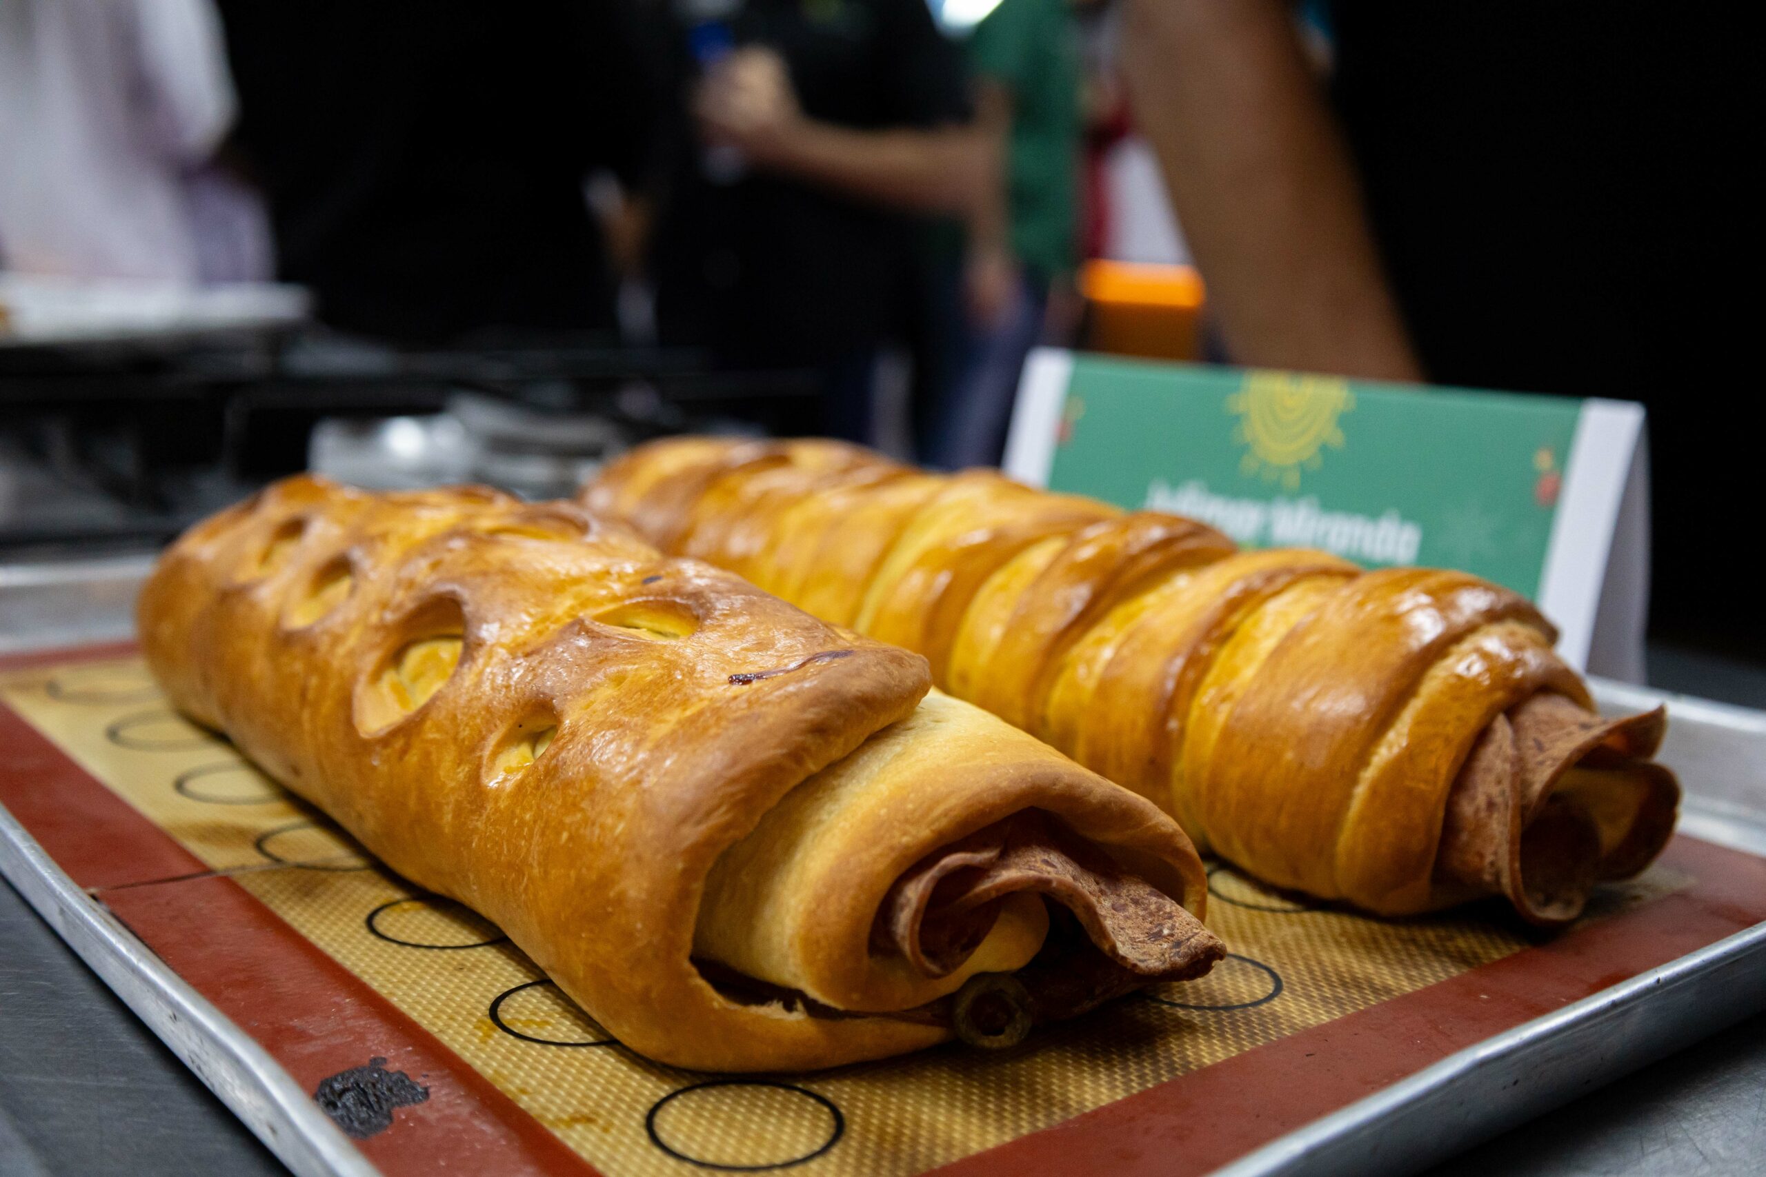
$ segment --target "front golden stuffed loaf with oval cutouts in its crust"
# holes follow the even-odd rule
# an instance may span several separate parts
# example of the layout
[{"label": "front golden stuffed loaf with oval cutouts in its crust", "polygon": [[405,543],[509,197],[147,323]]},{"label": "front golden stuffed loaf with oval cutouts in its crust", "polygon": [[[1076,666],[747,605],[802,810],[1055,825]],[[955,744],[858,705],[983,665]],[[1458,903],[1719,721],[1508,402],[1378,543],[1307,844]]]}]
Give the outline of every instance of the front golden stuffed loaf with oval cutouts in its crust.
[{"label": "front golden stuffed loaf with oval cutouts in its crust", "polygon": [[293,478],[166,551],[140,635],[180,709],[664,1062],[1010,1043],[1224,951],[1157,806],[569,503]]}]

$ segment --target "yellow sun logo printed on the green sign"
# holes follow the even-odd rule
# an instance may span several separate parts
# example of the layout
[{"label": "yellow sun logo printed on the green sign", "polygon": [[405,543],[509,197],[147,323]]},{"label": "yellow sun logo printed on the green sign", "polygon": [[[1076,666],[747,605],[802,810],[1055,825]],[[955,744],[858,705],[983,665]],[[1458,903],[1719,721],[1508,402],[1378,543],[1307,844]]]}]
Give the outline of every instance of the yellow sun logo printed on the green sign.
[{"label": "yellow sun logo printed on the green sign", "polygon": [[1355,408],[1349,381],[1294,372],[1247,372],[1226,411],[1238,415],[1233,441],[1247,446],[1238,468],[1300,489],[1300,471],[1324,464],[1319,450],[1342,448],[1337,418]]}]

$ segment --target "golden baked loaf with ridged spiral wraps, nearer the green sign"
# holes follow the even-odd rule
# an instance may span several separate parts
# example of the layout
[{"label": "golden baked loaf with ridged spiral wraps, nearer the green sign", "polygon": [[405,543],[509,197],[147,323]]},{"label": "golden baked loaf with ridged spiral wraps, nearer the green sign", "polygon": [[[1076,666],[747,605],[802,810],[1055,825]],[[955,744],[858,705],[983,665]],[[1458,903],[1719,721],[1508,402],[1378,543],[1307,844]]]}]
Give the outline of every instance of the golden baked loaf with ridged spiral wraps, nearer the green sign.
[{"label": "golden baked loaf with ridged spiral wraps, nearer the green sign", "polygon": [[1533,605],[1466,574],[1240,552],[834,441],[655,441],[583,503],[920,651],[1277,888],[1393,916],[1505,895],[1556,925],[1672,833],[1664,713],[1602,720]]}]

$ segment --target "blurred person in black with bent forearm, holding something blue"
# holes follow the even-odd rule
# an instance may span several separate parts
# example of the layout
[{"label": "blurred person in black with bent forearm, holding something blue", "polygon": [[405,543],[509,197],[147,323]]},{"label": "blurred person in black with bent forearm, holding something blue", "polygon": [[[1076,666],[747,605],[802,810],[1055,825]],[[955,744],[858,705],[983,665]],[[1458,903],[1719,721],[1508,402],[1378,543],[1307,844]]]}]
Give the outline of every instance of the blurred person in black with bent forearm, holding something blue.
[{"label": "blurred person in black with bent forearm, holding something blue", "polygon": [[669,0],[683,120],[652,270],[664,344],[816,374],[774,422],[874,439],[913,214],[966,214],[985,164],[925,0]]}]

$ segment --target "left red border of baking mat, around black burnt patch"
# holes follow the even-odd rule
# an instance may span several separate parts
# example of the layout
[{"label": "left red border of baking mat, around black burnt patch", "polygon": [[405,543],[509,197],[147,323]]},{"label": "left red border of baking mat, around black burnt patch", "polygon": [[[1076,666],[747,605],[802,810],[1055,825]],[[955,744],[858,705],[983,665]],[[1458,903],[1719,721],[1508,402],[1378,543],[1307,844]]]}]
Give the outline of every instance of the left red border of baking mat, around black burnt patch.
[{"label": "left red border of baking mat, around black burnt patch", "polygon": [[[132,653],[132,644],[0,656],[0,669]],[[357,1140],[387,1177],[597,1170],[438,1038],[0,706],[0,805],[81,888],[313,1092],[381,1057],[429,1089]],[[203,877],[187,877],[203,875]],[[166,881],[166,882],[154,882]]]}]

